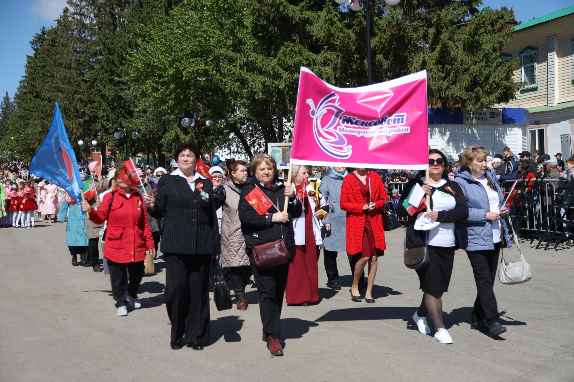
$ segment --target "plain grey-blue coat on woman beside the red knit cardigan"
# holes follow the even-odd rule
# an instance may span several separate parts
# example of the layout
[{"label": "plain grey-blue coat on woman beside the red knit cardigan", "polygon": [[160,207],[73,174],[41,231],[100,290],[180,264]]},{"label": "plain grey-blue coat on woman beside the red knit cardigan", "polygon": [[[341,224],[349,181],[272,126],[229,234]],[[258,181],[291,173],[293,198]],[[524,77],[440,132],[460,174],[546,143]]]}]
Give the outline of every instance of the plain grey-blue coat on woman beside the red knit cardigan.
[{"label": "plain grey-blue coat on woman beside the red knit cardigan", "polygon": [[339,206],[343,177],[333,174],[331,168],[321,179],[319,191],[323,194],[325,202],[329,205],[329,213],[323,223],[331,225],[331,232],[325,237],[325,249],[328,251],[347,252],[345,234],[347,230],[347,212]]}]

